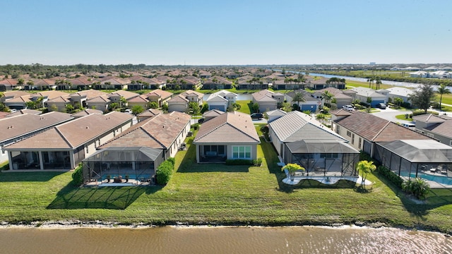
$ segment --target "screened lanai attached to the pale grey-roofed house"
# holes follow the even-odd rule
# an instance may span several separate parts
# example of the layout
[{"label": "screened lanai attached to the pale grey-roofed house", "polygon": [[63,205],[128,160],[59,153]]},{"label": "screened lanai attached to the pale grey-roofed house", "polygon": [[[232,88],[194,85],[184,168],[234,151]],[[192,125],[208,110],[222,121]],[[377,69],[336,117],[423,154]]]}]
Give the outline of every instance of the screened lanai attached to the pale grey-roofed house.
[{"label": "screened lanai attached to the pale grey-roofed house", "polygon": [[335,140],[300,140],[285,143],[284,162],[301,165],[308,176],[357,176],[359,152]]}]

